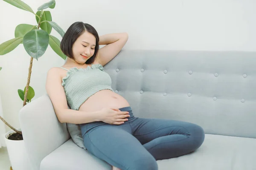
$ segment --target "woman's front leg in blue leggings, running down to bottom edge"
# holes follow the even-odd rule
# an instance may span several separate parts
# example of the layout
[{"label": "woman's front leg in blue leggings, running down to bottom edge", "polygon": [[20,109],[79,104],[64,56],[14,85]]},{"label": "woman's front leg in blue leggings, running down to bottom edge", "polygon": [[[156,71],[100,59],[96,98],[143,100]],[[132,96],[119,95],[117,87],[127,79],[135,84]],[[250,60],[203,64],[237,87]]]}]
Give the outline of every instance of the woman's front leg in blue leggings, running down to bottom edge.
[{"label": "woman's front leg in blue leggings, running down to bottom edge", "polygon": [[157,162],[131,135],[129,123],[103,125],[84,136],[84,146],[94,156],[121,170],[157,170]]}]

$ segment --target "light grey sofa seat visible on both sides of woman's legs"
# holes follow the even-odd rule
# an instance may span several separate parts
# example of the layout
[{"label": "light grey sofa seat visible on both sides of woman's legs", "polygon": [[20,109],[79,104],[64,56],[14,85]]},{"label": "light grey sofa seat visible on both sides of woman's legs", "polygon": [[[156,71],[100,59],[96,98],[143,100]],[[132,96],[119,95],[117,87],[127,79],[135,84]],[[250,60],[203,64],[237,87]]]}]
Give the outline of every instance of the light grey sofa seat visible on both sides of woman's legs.
[{"label": "light grey sofa seat visible on both sides of woman's legs", "polygon": [[[157,164],[159,170],[254,170],[255,149],[253,138],[206,134],[195,152]],[[41,161],[40,170],[111,170],[111,166],[69,139]]]}]

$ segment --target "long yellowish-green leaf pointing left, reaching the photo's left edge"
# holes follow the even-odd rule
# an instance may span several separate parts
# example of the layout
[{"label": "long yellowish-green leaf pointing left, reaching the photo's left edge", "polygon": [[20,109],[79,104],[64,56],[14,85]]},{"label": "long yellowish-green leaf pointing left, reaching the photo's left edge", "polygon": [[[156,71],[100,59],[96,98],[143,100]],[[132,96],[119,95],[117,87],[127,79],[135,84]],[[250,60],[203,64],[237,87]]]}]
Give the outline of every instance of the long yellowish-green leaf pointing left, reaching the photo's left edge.
[{"label": "long yellowish-green leaf pointing left, reaching the photo's left edge", "polygon": [[22,42],[22,40],[23,37],[17,37],[0,44],[0,55],[7,54],[14,50],[20,44],[20,42]]}]

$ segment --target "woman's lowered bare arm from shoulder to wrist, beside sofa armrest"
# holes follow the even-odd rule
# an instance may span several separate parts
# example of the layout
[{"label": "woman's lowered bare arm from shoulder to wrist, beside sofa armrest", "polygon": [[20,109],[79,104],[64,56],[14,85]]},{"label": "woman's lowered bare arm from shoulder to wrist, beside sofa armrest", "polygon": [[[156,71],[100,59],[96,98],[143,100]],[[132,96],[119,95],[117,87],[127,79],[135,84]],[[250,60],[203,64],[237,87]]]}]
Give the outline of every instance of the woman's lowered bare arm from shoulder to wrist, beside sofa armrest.
[{"label": "woman's lowered bare arm from shoulder to wrist, beside sofa armrest", "polygon": [[51,68],[47,73],[46,91],[61,123],[82,124],[100,121],[99,111],[84,112],[68,109],[66,95],[61,83],[62,79],[58,68]]}]

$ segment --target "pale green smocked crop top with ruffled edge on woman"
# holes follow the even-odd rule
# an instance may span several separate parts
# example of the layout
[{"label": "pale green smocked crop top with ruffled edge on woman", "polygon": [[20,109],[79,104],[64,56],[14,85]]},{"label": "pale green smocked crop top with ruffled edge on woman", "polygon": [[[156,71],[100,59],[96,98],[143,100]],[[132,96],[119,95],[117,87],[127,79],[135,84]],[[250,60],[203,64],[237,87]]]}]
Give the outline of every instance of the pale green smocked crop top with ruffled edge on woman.
[{"label": "pale green smocked crop top with ruffled edge on woman", "polygon": [[[62,67],[61,67],[62,68]],[[67,76],[62,79],[62,86],[69,107],[79,110],[80,106],[98,91],[111,88],[111,77],[104,71],[101,64],[88,65],[87,68],[70,68]]]}]

